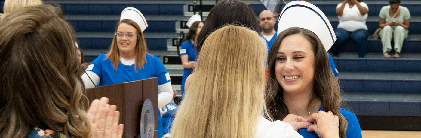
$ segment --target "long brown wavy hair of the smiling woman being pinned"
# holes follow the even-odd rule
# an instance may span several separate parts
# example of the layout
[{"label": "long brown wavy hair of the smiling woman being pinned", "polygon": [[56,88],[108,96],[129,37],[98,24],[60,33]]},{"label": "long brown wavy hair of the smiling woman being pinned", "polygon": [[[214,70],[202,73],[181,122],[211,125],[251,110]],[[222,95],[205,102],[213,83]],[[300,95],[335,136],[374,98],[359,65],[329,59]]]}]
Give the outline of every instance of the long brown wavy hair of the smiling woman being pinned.
[{"label": "long brown wavy hair of the smiling woman being pinned", "polygon": [[[342,102],[342,97],[340,96],[341,87],[330,69],[325,47],[323,47],[319,37],[308,29],[291,27],[282,31],[273,42],[269,51],[268,79],[266,83],[266,104],[269,111],[271,111],[269,114],[274,120],[283,120],[289,114],[288,107],[283,101],[282,87],[276,80],[275,62],[282,39],[293,34],[303,35],[312,45],[315,59],[313,95],[322,101],[323,109],[326,112],[331,111],[333,114],[338,115],[339,122],[341,123],[339,135],[341,138],[345,138],[348,122],[346,122],[345,117],[339,112]],[[309,104],[311,103],[313,102],[310,101]]]}]

